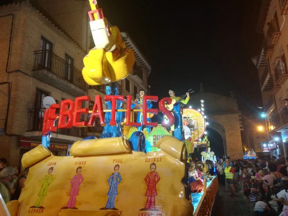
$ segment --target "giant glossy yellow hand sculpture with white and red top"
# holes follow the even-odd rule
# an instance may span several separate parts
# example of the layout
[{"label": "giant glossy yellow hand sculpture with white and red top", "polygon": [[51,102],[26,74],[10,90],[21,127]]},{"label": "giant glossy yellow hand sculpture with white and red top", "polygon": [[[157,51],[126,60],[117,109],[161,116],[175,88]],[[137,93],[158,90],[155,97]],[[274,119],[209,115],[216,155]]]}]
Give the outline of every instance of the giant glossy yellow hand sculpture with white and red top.
[{"label": "giant glossy yellow hand sculpture with white and red top", "polygon": [[109,27],[96,0],[89,0],[90,28],[95,47],[83,59],[82,75],[89,85],[102,85],[128,76],[134,64],[134,53],[126,48],[117,26]]}]

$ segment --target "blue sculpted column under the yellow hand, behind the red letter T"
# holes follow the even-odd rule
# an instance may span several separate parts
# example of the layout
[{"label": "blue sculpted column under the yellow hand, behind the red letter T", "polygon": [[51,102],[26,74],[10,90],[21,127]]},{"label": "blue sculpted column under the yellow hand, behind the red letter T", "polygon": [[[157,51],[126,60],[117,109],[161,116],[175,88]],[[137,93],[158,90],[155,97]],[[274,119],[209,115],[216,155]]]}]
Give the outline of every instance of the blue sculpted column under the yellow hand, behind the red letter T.
[{"label": "blue sculpted column under the yellow hand, behind the red letter T", "polygon": [[[119,87],[117,82],[111,83],[111,86],[106,86],[106,95],[119,95]],[[122,109],[122,101],[116,101],[116,109]],[[111,109],[111,102],[105,102],[106,108]],[[115,118],[117,125],[111,126],[109,125],[111,119],[111,112],[106,112],[105,117],[105,126],[103,128],[103,132],[100,135],[100,138],[108,138],[108,137],[120,137],[122,136],[120,122],[124,121],[125,112],[116,112]]]}]

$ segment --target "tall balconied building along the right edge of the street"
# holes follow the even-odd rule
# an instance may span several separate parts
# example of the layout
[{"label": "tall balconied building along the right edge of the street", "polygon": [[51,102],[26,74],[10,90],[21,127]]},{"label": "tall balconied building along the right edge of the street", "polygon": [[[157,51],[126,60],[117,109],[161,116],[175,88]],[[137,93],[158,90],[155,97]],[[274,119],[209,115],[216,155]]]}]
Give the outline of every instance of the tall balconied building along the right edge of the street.
[{"label": "tall balconied building along the right edge of the street", "polygon": [[288,2],[262,0],[257,31],[263,33],[259,54],[252,58],[258,69],[270,153],[288,156]]}]

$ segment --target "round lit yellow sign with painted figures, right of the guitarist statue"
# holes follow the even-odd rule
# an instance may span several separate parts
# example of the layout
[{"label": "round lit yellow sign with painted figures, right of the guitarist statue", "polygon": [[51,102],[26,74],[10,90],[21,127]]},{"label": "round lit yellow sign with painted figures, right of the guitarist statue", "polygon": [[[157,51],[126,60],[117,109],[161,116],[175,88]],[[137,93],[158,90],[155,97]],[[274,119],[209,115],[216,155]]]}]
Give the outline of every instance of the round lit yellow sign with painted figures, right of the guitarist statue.
[{"label": "round lit yellow sign with painted figures, right of the guitarist statue", "polygon": [[[182,114],[182,123],[185,133],[185,128],[188,127],[193,141],[199,140],[205,132],[205,119],[202,113],[195,109],[185,108]],[[184,127],[186,126],[186,127]],[[186,129],[187,130],[187,129]],[[185,135],[186,139],[186,135]]]}]

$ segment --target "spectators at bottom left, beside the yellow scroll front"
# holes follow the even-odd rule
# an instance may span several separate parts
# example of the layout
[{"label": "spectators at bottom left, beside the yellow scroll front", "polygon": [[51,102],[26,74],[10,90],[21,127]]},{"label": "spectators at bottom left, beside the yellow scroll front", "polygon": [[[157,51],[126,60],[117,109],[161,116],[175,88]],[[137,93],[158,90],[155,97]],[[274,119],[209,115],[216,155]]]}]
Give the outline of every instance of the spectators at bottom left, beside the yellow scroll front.
[{"label": "spectators at bottom left, beside the yellow scroll front", "polygon": [[19,199],[29,168],[8,166],[5,158],[0,158],[0,194],[5,203]]}]

